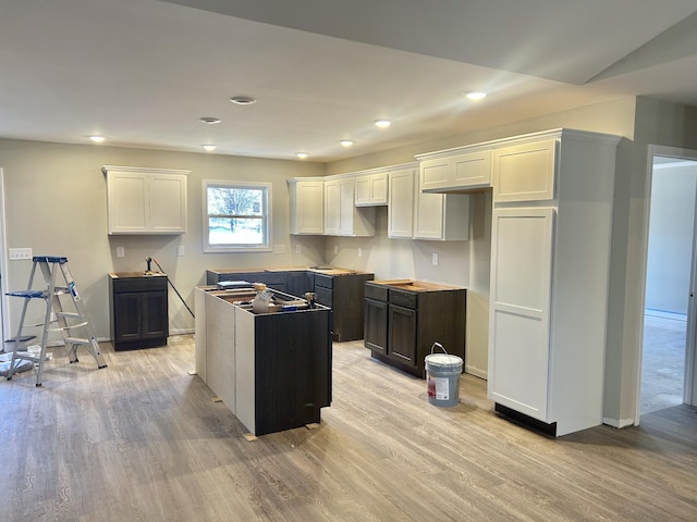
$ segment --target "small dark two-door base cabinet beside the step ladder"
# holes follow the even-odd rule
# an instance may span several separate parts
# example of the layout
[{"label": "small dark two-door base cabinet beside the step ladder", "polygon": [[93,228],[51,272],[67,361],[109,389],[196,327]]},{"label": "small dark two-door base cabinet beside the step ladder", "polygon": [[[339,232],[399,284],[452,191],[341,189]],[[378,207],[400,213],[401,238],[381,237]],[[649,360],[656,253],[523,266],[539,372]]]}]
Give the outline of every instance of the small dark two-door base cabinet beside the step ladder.
[{"label": "small dark two-door base cabinet beside the step ladder", "polygon": [[109,311],[114,350],[167,345],[167,284],[164,274],[109,274]]}]

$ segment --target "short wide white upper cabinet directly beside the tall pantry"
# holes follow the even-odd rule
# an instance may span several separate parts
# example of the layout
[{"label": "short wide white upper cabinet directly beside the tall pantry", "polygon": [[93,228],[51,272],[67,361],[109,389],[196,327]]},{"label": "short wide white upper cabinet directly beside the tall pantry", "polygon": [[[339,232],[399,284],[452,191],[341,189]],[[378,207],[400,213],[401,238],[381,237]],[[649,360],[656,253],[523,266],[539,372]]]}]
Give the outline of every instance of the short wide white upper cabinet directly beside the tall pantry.
[{"label": "short wide white upper cabinet directly beside the tall pantry", "polygon": [[467,191],[491,186],[491,149],[450,149],[419,154],[421,190]]}]

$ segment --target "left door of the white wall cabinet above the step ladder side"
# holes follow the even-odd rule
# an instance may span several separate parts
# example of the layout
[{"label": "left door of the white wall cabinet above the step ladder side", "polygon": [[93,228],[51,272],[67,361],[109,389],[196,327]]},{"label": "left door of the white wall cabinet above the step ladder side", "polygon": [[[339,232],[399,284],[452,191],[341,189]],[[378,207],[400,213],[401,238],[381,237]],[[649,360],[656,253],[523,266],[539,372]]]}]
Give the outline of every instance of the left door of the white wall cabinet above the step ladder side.
[{"label": "left door of the white wall cabinet above the step ladder side", "polygon": [[149,232],[148,178],[136,172],[107,174],[109,234]]}]

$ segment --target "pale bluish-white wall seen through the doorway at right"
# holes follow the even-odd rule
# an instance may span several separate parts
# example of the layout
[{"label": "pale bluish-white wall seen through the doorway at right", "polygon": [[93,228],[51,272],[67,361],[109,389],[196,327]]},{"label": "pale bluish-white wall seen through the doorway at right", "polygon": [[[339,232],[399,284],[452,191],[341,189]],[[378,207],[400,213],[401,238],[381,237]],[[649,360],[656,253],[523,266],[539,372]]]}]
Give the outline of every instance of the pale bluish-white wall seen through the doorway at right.
[{"label": "pale bluish-white wall seen through the doorway at right", "polygon": [[646,308],[687,314],[697,163],[659,163],[651,177]]}]

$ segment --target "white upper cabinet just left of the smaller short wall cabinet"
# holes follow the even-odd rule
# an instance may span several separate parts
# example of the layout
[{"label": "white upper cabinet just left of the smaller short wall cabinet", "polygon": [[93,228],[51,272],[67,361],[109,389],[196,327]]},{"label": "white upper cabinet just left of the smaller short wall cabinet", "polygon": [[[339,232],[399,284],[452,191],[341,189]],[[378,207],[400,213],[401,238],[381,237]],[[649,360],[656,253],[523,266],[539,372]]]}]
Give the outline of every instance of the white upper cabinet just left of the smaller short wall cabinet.
[{"label": "white upper cabinet just left of the smaller short wall cabinet", "polygon": [[354,176],[330,176],[325,181],[325,234],[375,236],[375,208],[357,208]]}]

